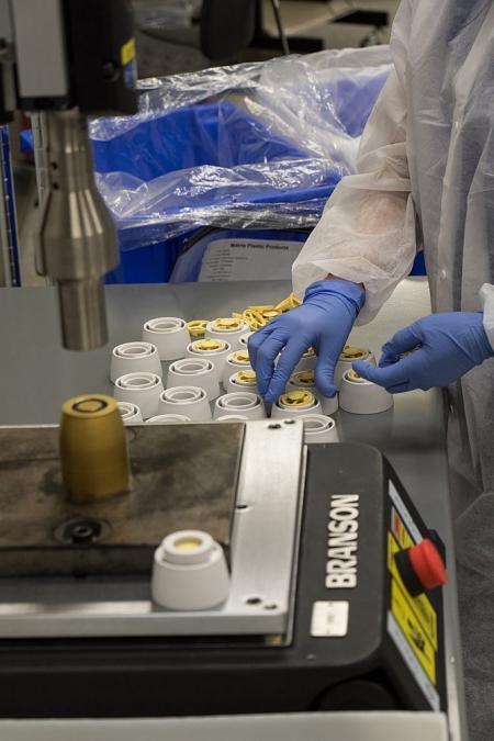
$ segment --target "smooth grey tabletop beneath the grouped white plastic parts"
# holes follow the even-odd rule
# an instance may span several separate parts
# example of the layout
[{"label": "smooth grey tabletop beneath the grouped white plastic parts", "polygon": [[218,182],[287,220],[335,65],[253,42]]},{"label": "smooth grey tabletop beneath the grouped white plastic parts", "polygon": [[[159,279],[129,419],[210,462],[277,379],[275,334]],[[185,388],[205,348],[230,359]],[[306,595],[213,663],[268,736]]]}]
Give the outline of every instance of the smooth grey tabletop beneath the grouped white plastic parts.
[{"label": "smooth grey tabletop beneath the grouped white plastic parts", "polygon": [[[2,348],[0,424],[53,424],[68,396],[109,392],[111,347],[141,338],[142,325],[155,316],[214,318],[248,304],[273,303],[290,292],[288,282],[211,283],[109,287],[110,345],[101,350],[70,353],[60,348],[56,294],[48,289],[0,291]],[[372,348],[398,328],[430,313],[427,283],[401,283],[377,318],[353,330],[350,340]],[[438,392],[420,391],[395,397],[394,409],[369,417],[339,412],[341,437],[380,448],[395,468],[427,524],[444,539],[450,584],[445,590],[448,693],[452,739],[465,739],[461,649],[456,607],[456,579],[444,412]],[[463,732],[463,736],[461,736]]]}]

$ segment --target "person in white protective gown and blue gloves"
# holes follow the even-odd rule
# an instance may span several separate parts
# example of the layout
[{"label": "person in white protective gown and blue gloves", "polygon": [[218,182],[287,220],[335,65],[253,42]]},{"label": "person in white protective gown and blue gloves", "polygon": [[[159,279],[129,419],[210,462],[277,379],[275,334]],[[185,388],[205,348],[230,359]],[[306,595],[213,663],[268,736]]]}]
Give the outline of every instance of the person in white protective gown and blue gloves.
[{"label": "person in white protective gown and blue gloves", "polygon": [[[494,739],[494,0],[402,0],[394,69],[341,180],[293,266],[302,306],[249,352],[272,402],[302,352],[316,383],[353,322],[369,322],[423,248],[434,314],[401,328],[378,368],[392,393],[444,386],[472,741]],[[398,329],[398,327],[396,327]],[[408,352],[412,350],[412,352]],[[280,360],[274,361],[281,352]]]}]

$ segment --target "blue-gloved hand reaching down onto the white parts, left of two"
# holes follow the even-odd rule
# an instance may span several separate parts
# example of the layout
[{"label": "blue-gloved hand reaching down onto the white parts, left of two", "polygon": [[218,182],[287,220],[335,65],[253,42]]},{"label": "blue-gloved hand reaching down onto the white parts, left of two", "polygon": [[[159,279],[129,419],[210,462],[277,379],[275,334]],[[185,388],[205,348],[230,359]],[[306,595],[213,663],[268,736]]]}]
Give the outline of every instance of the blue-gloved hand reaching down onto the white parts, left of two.
[{"label": "blue-gloved hand reaching down onto the white parts, left of two", "polygon": [[310,347],[318,356],[315,371],[318,390],[325,396],[336,394],[335,366],[364,295],[363,288],[348,281],[313,283],[301,306],[277,317],[250,337],[250,362],[257,373],[259,393],[267,402],[276,402],[284,392],[296,363]]}]

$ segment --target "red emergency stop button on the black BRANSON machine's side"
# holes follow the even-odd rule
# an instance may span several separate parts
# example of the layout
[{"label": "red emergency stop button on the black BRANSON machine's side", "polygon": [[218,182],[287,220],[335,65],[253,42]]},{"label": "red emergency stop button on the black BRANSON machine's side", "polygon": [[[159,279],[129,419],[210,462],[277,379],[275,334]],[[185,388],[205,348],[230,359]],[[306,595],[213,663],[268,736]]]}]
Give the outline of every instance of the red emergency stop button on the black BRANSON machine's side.
[{"label": "red emergency stop button on the black BRANSON machine's side", "polygon": [[398,551],[395,561],[404,585],[414,597],[444,586],[448,581],[442,557],[429,538]]}]

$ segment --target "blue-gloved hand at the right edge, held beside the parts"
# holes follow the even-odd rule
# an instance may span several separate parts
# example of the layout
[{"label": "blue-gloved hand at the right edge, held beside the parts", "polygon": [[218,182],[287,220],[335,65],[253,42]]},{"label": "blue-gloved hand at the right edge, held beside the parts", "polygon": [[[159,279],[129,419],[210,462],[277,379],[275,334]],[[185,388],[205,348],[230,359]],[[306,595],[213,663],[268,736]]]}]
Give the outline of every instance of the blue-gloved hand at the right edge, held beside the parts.
[{"label": "blue-gloved hand at the right edge, held beside the parts", "polygon": [[481,312],[425,316],[384,345],[379,368],[357,360],[353,369],[392,394],[447,386],[493,357],[482,322]]}]

